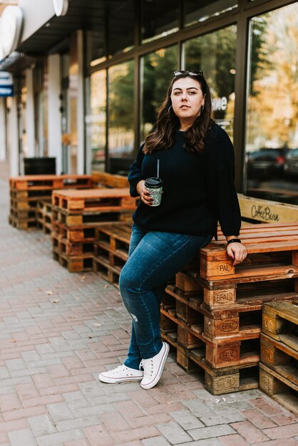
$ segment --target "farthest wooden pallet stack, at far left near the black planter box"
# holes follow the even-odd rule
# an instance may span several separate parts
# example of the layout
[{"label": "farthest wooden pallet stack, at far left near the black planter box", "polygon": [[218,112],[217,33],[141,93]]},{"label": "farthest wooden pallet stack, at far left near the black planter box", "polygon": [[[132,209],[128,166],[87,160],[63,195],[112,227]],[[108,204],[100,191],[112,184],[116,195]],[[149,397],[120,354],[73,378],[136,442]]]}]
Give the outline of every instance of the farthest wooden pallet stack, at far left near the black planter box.
[{"label": "farthest wooden pallet stack, at far left near the black planter box", "polygon": [[38,227],[38,201],[51,201],[55,189],[92,187],[90,175],[24,175],[9,179],[9,223],[18,229]]}]

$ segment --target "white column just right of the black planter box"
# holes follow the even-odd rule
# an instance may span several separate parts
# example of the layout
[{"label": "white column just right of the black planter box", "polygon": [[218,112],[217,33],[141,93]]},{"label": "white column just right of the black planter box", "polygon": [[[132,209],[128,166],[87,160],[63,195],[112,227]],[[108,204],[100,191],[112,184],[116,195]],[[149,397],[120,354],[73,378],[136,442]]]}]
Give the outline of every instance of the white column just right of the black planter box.
[{"label": "white column just right of the black planter box", "polygon": [[60,56],[48,56],[48,156],[56,157],[56,173],[62,170],[61,113],[60,113]]}]

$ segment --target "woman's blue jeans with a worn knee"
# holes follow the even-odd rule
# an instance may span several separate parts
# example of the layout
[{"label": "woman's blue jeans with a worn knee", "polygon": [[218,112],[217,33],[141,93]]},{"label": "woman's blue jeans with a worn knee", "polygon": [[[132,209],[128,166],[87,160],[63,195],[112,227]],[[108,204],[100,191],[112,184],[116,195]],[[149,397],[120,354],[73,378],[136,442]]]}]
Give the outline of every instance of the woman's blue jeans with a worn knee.
[{"label": "woman's blue jeans with a worn knee", "polygon": [[142,359],[157,355],[160,301],[167,282],[212,239],[173,232],[146,231],[133,224],[129,257],[119,278],[123,303],[132,317],[125,365],[138,370]]}]

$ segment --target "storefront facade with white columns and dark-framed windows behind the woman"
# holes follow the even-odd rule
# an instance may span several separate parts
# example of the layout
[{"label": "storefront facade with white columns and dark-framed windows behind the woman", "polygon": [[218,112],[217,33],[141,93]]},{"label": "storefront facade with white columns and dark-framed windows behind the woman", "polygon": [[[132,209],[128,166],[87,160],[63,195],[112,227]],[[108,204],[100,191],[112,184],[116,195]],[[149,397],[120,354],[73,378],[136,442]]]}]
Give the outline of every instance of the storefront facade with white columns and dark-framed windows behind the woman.
[{"label": "storefront facade with white columns and dark-framed windows behind the woman", "polygon": [[237,190],[298,204],[297,1],[14,7],[19,34],[16,25],[0,50],[0,71],[14,78],[14,96],[0,98],[2,177],[34,156],[56,157],[57,173],[126,175],[173,71],[202,70],[214,118],[234,143]]}]

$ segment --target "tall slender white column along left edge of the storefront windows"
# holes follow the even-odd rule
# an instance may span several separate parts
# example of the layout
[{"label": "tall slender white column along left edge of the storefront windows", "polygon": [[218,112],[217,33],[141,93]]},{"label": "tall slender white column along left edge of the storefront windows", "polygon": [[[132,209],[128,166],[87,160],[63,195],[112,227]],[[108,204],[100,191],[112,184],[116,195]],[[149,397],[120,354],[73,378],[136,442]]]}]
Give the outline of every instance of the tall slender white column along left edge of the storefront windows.
[{"label": "tall slender white column along left edge of the storefront windows", "polygon": [[78,48],[78,102],[77,102],[77,129],[78,129],[78,159],[77,171],[78,175],[84,173],[84,76],[83,76],[83,31],[77,32],[77,48]]}]

